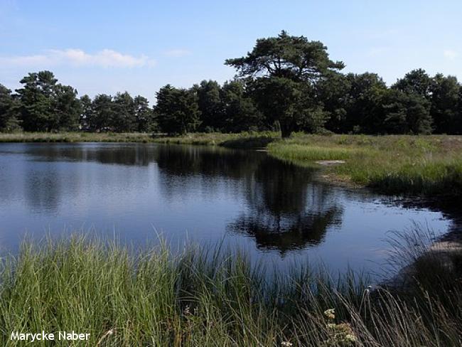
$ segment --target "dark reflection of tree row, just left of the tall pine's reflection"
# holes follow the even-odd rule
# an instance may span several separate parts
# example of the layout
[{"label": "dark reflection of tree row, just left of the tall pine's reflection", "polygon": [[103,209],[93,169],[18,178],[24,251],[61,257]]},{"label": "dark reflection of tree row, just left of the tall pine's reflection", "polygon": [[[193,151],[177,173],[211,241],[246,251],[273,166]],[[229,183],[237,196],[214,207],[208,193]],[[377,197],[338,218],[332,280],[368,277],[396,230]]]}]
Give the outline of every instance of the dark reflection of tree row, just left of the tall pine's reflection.
[{"label": "dark reflection of tree row, just left of the tall pine's reflection", "polygon": [[264,154],[256,151],[162,146],[156,151],[159,190],[170,202],[190,196],[207,201],[226,197],[240,201],[247,186],[252,186],[263,158]]}]

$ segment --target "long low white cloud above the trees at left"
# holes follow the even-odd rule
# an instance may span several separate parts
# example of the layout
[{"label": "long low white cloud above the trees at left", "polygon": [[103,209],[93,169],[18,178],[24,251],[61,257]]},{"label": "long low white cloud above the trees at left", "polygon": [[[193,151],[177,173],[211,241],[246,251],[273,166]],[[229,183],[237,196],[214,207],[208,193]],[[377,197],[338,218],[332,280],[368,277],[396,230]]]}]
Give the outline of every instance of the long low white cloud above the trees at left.
[{"label": "long low white cloud above the trees at left", "polygon": [[104,49],[96,53],[86,53],[84,50],[69,48],[65,50],[47,50],[37,55],[0,56],[2,67],[46,67],[55,65],[97,66],[102,68],[136,68],[153,66],[155,60],[140,55],[128,55],[116,50]]}]

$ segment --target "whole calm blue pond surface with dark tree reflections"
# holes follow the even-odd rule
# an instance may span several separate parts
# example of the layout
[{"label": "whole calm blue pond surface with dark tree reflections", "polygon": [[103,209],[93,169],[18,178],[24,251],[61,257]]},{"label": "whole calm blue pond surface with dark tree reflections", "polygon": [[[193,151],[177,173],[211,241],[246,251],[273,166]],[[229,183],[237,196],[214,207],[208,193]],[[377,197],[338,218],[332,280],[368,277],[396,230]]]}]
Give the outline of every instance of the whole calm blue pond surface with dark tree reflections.
[{"label": "whole calm blue pond surface with dark tree reflections", "polygon": [[387,232],[451,220],[313,181],[259,151],[156,144],[0,144],[0,247],[90,230],[136,244],[163,235],[244,247],[276,265],[380,271]]}]

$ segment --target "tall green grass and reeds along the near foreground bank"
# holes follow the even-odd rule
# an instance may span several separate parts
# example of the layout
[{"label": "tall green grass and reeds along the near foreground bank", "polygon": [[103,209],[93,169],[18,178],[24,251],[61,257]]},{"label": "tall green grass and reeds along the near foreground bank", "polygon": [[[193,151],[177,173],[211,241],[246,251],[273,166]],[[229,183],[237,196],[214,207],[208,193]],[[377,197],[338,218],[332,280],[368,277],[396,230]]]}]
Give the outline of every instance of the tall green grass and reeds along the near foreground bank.
[{"label": "tall green grass and reeds along the near foreground bank", "polygon": [[461,283],[441,269],[425,275],[438,286],[400,296],[308,267],[269,282],[245,254],[219,249],[26,243],[1,269],[0,343],[74,330],[91,334],[85,346],[460,346]]}]

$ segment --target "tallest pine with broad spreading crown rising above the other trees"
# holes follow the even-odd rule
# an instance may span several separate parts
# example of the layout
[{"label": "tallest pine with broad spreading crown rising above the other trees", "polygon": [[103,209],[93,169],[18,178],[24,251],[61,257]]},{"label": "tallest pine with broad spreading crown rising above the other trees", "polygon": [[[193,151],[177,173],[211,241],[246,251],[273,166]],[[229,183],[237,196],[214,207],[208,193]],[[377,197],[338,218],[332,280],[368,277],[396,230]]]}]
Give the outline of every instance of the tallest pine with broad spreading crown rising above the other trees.
[{"label": "tallest pine with broad spreading crown rising above the other trees", "polygon": [[260,38],[252,52],[227,59],[248,80],[249,89],[267,122],[278,122],[282,137],[299,129],[318,132],[328,118],[316,101],[318,82],[345,67],[329,59],[327,47],[304,36]]}]

